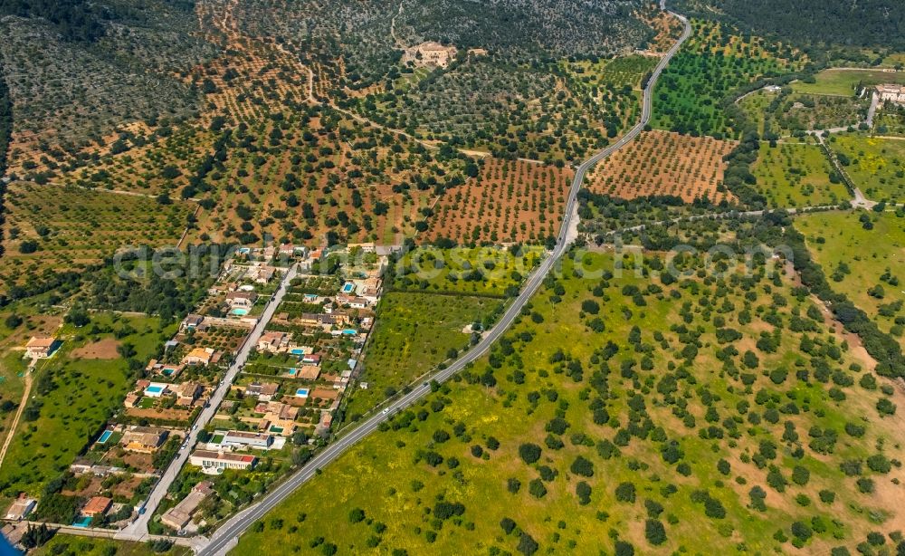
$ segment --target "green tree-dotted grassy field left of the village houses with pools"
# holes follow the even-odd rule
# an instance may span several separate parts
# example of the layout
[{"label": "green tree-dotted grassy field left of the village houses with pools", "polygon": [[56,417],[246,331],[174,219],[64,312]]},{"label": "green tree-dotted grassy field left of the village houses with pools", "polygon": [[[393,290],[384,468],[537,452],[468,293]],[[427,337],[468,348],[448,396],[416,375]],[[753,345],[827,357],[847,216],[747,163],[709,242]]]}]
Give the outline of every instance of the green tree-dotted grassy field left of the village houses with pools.
[{"label": "green tree-dotted grassy field left of the village houses with pools", "polygon": [[[114,321],[109,314],[99,313],[92,314],[90,324],[81,329],[67,324],[59,331],[62,347],[33,371],[33,397],[0,467],[4,495],[40,494],[43,485],[69,467],[120,406],[132,384],[126,359],[80,359],[73,352],[113,337],[114,331],[127,325],[133,331],[119,342],[131,344],[139,360],[147,359],[161,341],[156,318]],[[94,326],[103,332],[93,333]]]}]

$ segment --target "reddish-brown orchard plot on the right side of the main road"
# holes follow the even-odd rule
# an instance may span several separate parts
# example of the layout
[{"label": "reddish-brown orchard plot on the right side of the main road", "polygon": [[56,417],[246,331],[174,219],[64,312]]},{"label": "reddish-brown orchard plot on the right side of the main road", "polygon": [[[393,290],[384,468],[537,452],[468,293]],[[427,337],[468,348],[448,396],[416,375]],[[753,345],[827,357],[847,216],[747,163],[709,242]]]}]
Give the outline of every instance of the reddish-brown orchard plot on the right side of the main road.
[{"label": "reddish-brown orchard plot on the right side of the main road", "polygon": [[687,203],[734,197],[723,189],[723,158],[735,141],[691,137],[666,131],[641,133],[599,162],[587,177],[591,191],[612,197],[674,196]]}]

